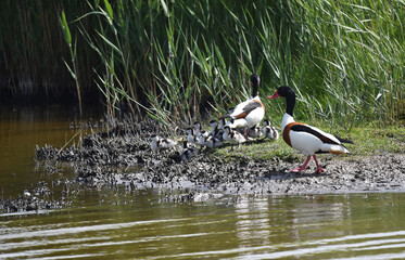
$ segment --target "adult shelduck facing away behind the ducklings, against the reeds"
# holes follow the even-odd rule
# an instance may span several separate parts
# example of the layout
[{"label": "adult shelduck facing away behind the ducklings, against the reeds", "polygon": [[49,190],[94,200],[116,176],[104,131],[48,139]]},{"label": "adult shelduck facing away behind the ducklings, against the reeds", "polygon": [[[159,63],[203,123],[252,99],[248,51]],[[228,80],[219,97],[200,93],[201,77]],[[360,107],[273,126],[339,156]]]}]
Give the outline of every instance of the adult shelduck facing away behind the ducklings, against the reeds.
[{"label": "adult shelduck facing away behind the ducklings, against the reeds", "polygon": [[256,74],[250,77],[250,84],[252,84],[252,99],[239,103],[229,114],[230,120],[227,125],[230,128],[245,128],[244,135],[248,139],[248,131],[251,127],[258,125],[265,114],[265,107],[258,96],[258,86],[261,78]]}]

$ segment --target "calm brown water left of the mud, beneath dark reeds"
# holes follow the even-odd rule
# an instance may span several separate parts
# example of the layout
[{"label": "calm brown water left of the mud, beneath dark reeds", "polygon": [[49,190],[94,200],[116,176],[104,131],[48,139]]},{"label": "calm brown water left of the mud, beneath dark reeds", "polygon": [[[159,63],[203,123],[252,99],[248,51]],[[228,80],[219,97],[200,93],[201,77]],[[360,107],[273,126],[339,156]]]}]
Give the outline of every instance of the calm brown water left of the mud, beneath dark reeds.
[{"label": "calm brown water left of the mud, beneath dark reeds", "polygon": [[[87,109],[81,121],[100,117],[97,109]],[[62,147],[78,128],[73,106],[0,106],[0,188],[3,198],[15,197],[40,180],[49,180],[35,169],[35,146],[52,144]],[[78,123],[77,123],[78,125]]]}]

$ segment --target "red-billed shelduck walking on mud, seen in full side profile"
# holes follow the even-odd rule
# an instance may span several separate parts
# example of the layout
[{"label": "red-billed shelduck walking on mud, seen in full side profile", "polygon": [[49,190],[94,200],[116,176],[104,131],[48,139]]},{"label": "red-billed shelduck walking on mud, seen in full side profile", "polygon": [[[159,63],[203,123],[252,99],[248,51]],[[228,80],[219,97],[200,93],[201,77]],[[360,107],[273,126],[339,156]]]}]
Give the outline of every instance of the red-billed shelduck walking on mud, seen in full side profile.
[{"label": "red-billed shelduck walking on mud, seen in full side profile", "polygon": [[295,122],[293,117],[295,106],[295,92],[291,87],[281,86],[276,93],[269,95],[268,99],[284,98],[287,101],[286,113],[281,121],[281,132],[284,142],[292,148],[305,154],[307,157],[304,164],[291,170],[291,172],[302,172],[313,157],[316,164],[315,173],[324,172],[325,170],[319,165],[316,154],[331,153],[331,154],[349,154],[350,152],[343,143],[354,144],[350,140],[337,138],[322,130],[308,126],[302,122]]}]

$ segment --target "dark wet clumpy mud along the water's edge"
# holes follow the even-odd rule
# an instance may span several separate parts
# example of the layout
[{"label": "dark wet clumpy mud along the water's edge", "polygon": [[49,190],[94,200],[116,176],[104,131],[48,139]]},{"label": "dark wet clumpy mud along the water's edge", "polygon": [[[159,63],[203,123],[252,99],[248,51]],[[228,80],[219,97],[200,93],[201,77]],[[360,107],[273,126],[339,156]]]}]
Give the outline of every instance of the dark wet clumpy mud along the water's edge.
[{"label": "dark wet clumpy mud along the water's edge", "polygon": [[[72,162],[74,180],[87,187],[124,185],[128,191],[165,188],[166,199],[201,202],[216,194],[326,194],[405,191],[405,154],[374,154],[370,156],[324,156],[325,172],[291,173],[301,160],[252,160],[249,157],[217,158],[210,151],[200,152],[182,161],[181,148],[153,152],[148,138],[165,135],[152,119],[137,122],[125,118],[110,120],[109,131],[83,139],[81,145],[60,148],[37,147],[36,160],[42,168],[54,170],[59,162]],[[172,133],[185,136],[181,128]],[[246,144],[249,145],[249,144]],[[39,183],[36,187],[49,190]],[[43,196],[42,196],[43,197]],[[38,210],[66,206],[63,200],[49,202],[31,197],[2,200],[3,211]]]}]

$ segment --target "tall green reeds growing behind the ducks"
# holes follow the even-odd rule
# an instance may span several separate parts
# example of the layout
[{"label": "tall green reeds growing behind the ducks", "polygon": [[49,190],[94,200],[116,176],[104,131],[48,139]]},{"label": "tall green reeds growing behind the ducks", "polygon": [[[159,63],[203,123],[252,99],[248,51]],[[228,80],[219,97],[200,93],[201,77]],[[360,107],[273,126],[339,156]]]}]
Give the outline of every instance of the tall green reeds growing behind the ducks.
[{"label": "tall green reeds growing behind the ducks", "polygon": [[[350,131],[405,117],[401,0],[9,0],[0,15],[0,73],[14,93],[71,88],[80,104],[96,89],[111,115],[125,103],[189,122],[245,100],[256,72],[263,100],[296,90],[299,119]],[[283,102],[265,105],[278,121]]]}]

